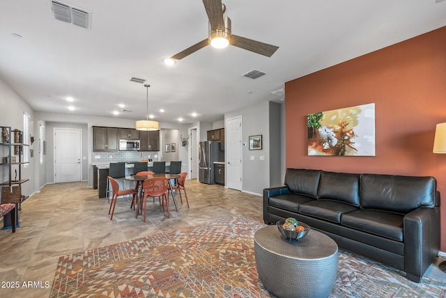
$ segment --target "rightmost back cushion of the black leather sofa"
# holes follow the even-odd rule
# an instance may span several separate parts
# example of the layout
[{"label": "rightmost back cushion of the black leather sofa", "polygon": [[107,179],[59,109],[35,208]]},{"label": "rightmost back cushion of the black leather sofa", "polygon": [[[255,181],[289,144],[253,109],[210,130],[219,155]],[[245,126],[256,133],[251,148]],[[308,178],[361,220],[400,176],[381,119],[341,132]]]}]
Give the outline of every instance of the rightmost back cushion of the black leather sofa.
[{"label": "rightmost back cushion of the black leather sofa", "polygon": [[435,205],[433,177],[362,174],[360,204],[364,209],[407,214],[417,207]]}]

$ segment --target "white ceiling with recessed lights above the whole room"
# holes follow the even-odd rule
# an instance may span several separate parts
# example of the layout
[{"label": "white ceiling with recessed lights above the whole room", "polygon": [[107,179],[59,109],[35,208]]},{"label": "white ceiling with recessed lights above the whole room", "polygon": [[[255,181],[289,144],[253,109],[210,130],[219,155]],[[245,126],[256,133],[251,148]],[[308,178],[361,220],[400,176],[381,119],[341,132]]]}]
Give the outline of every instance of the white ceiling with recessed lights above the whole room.
[{"label": "white ceiling with recessed lights above the whole room", "polygon": [[[277,52],[209,45],[167,66],[208,36],[202,1],[59,2],[89,13],[88,28],[55,19],[51,0],[0,3],[0,79],[36,111],[131,119],[146,118],[150,84],[149,112],[171,123],[280,102],[272,91],[286,81],[446,26],[442,0],[227,0],[232,33]],[[266,75],[244,76],[252,70]]]}]

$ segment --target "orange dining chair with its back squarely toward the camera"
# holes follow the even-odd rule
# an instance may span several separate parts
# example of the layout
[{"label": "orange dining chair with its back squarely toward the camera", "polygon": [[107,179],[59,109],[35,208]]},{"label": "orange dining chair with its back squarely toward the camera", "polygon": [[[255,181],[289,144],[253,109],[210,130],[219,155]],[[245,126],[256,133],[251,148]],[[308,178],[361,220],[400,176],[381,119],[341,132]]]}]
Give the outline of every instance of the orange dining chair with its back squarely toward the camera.
[{"label": "orange dining chair with its back squarely toward the camera", "polygon": [[[169,180],[167,178],[148,178],[142,183],[143,196],[139,202],[139,210],[137,212],[137,217],[139,212],[142,212],[142,206],[144,203],[144,222],[146,222],[147,214],[147,198],[151,197],[161,197],[162,198],[162,212],[164,212],[164,201],[167,207],[167,217],[170,218],[169,212]],[[144,202],[143,202],[144,201]]]}]

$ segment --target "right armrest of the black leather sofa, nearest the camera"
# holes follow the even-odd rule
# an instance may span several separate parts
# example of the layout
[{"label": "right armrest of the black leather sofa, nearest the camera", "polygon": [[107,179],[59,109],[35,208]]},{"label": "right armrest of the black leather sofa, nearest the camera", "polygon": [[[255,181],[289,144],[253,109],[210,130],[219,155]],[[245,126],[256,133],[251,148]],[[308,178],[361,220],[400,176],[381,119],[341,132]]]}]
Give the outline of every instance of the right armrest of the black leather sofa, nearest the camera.
[{"label": "right armrest of the black leather sofa, nearest the camera", "polygon": [[420,282],[440,250],[440,208],[417,208],[404,217],[404,271]]}]

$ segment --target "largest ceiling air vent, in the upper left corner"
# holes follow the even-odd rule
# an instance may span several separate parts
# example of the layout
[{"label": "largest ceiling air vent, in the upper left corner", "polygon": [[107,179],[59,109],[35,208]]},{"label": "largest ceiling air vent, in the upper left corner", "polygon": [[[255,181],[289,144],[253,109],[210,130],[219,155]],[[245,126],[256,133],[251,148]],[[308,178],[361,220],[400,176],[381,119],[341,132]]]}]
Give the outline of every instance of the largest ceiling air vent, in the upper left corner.
[{"label": "largest ceiling air vent, in the upper left corner", "polygon": [[90,29],[91,12],[61,1],[51,1],[51,10],[55,19]]}]

